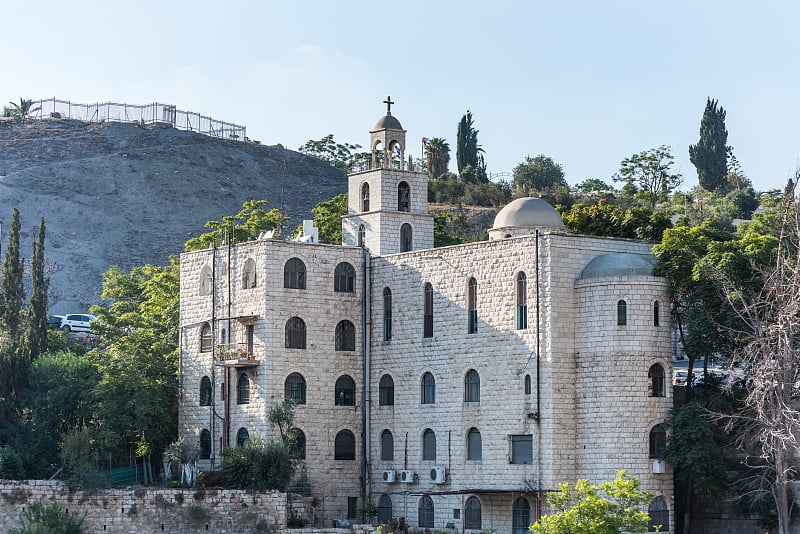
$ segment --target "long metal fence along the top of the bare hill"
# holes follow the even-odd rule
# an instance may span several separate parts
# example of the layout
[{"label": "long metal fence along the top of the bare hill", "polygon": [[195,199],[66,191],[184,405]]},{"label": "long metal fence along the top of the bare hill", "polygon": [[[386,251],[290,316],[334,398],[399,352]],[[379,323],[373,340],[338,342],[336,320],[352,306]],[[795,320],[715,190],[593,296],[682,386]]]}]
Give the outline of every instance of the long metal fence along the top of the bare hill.
[{"label": "long metal fence along the top of the bare hill", "polygon": [[137,106],[103,102],[97,104],[79,104],[68,100],[49,98],[37,100],[32,109],[39,108],[31,114],[35,118],[76,119],[84,122],[136,122],[138,124],[169,124],[179,130],[197,132],[211,137],[246,141],[247,129],[239,124],[220,121],[206,117],[194,111],[183,111],[171,104],[153,102]]}]

